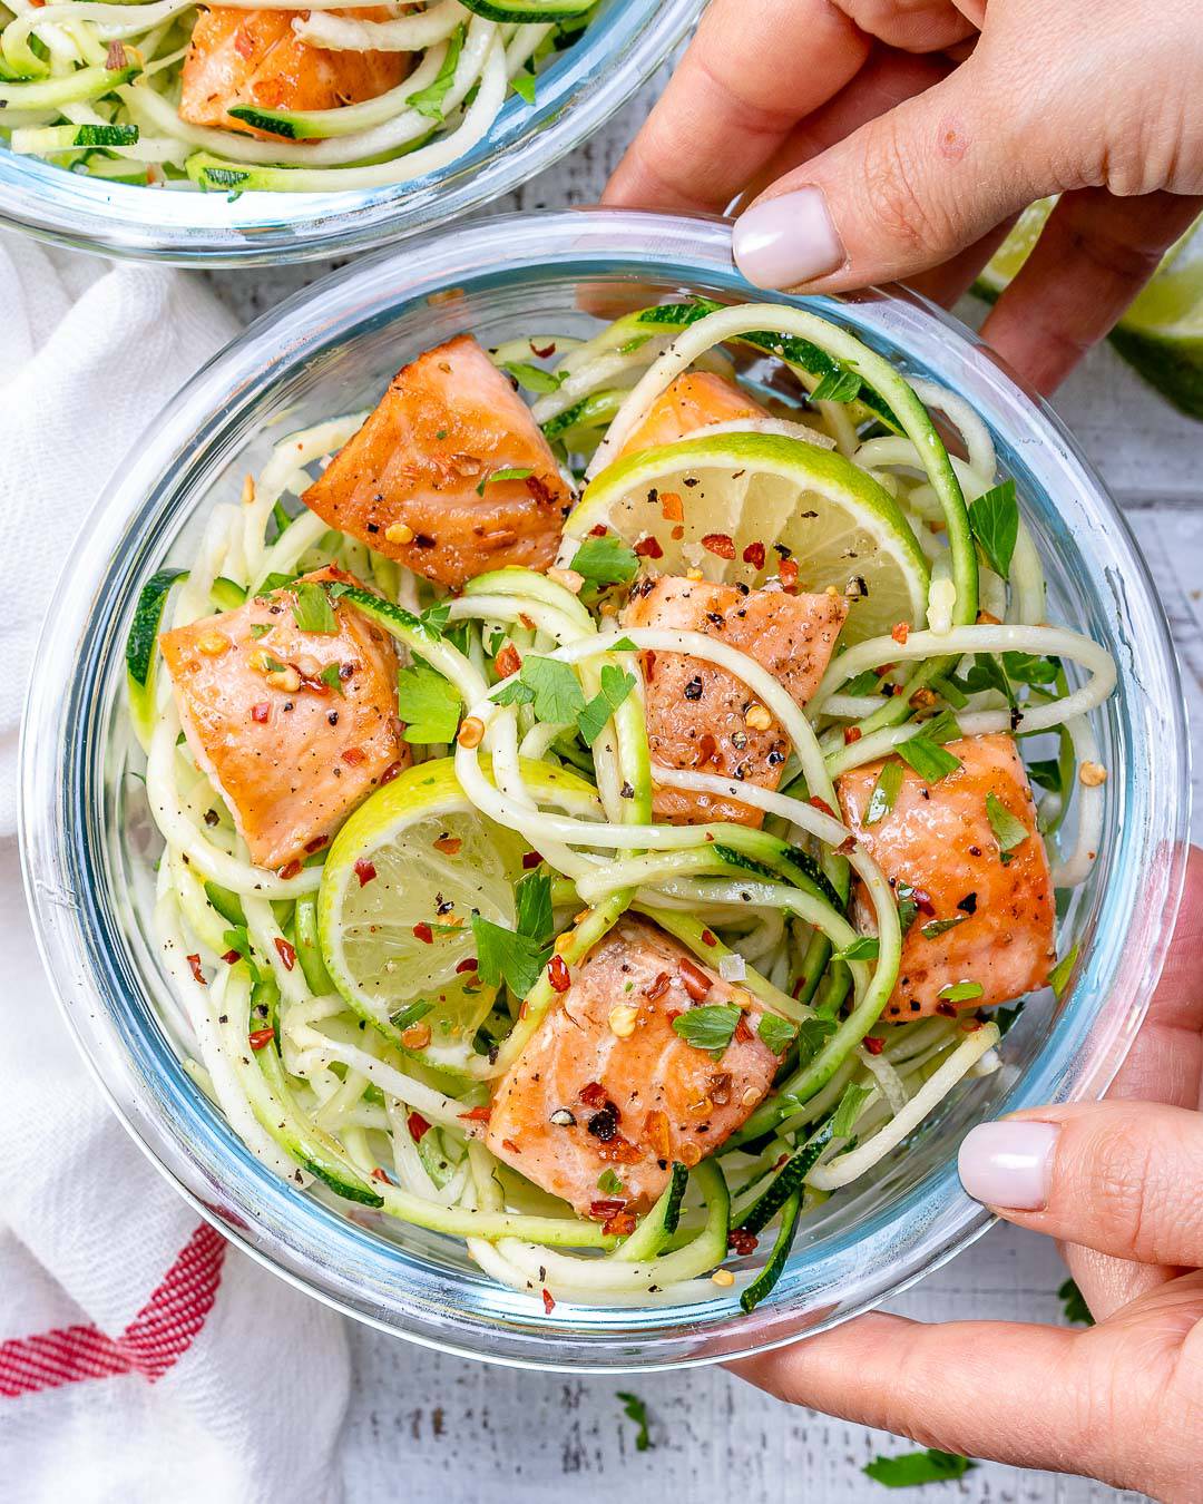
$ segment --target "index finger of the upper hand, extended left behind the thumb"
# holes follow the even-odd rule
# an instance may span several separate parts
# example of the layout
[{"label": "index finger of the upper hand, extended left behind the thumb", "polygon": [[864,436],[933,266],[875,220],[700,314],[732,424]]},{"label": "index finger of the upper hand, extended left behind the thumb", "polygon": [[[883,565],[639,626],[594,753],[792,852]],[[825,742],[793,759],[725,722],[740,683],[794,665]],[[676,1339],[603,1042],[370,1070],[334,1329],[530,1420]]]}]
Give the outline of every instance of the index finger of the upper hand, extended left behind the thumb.
[{"label": "index finger of the upper hand, extended left behind the thumb", "polygon": [[713,0],[603,203],[722,212],[869,45],[829,0]]}]

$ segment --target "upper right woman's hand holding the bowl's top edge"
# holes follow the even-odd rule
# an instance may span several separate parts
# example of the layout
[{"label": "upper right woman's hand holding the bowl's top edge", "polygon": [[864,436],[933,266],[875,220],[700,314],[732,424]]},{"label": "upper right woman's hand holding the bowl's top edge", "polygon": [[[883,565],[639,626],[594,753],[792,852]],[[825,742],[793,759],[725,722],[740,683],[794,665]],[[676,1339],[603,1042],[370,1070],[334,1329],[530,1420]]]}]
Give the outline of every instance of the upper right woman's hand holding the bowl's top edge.
[{"label": "upper right woman's hand holding the bowl's top edge", "polygon": [[1200,98],[1198,0],[713,0],[606,202],[767,185],[735,223],[750,281],[952,302],[1062,193],[983,329],[1051,391],[1203,208]]}]

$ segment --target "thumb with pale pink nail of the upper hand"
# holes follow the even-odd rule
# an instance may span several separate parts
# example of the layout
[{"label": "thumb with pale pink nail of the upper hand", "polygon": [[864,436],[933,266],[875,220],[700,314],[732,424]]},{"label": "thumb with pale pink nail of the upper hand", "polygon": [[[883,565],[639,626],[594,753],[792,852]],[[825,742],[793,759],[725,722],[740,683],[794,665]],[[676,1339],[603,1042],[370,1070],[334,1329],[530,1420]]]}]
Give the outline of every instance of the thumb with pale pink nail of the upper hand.
[{"label": "thumb with pale pink nail of the upper hand", "polygon": [[1057,185],[976,59],[777,179],[735,221],[758,287],[839,292],[946,262]]}]

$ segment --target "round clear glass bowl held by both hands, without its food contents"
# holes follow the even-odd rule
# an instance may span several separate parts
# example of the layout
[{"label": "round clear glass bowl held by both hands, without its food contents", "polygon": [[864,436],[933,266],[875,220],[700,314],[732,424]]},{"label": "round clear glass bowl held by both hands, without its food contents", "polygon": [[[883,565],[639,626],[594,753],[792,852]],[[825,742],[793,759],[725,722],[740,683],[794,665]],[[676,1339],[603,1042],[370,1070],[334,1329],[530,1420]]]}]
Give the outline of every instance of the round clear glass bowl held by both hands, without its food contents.
[{"label": "round clear glass bowl held by both hands, without its food contents", "polygon": [[[1050,618],[1104,642],[1119,689],[1096,713],[1111,776],[1093,872],[1063,932],[1072,988],[1024,1009],[1005,1068],[971,1083],[863,1188],[805,1224],[752,1316],[731,1290],[689,1307],[544,1314],[463,1247],[382,1230],[277,1179],[185,1074],[170,990],[143,929],[150,826],[125,775],[123,644],[143,581],[183,559],[215,498],[236,499],[275,436],[370,406],[420,350],[465,329],[486,344],[586,334],[606,311],[693,290],[759,298],[722,224],[626,212],[478,221],[326,278],[260,319],[158,415],[108,487],[59,587],[24,731],[24,859],[42,952],[78,1042],[162,1172],[242,1248],[313,1295],[459,1354],[550,1369],[705,1363],[783,1343],[895,1295],[989,1223],[956,1178],[967,1128],[1020,1107],[1098,1096],[1137,1030],[1177,911],[1188,821],[1182,693],[1134,540],[1051,411],[953,319],[902,292],[808,299],[907,371],[961,393],[1015,477],[1050,581]],[[779,298],[777,301],[789,301]],[[1065,942],[1063,942],[1065,943]],[[346,1205],[346,1203],[343,1203]],[[358,1218],[358,1220],[353,1220]]]}]

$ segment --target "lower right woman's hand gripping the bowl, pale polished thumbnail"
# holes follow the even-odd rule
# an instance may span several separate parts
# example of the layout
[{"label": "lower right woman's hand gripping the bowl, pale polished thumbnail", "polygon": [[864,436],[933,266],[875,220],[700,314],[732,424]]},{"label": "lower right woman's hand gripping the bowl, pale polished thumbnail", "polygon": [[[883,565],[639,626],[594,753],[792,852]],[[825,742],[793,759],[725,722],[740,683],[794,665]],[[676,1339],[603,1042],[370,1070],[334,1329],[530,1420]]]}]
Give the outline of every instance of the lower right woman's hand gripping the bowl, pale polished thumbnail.
[{"label": "lower right woman's hand gripping the bowl, pale polished thumbnail", "polygon": [[965,1190],[1069,1247],[1098,1327],[928,1327],[862,1316],[732,1364],[798,1405],[923,1445],[1200,1496],[1203,1439],[1203,851],[1165,972],[1110,1101],[983,1123]]}]

